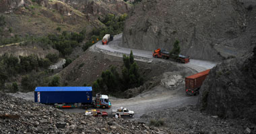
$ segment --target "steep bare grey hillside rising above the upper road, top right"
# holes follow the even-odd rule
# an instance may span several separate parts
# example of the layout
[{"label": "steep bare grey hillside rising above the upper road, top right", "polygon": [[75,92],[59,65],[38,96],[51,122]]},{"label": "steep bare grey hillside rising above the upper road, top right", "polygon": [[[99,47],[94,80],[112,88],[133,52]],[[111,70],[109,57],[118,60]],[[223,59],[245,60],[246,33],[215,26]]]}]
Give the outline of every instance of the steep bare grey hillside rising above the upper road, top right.
[{"label": "steep bare grey hillside rising above the upper road, top right", "polygon": [[251,49],[255,27],[253,0],[143,0],[130,13],[123,46],[142,50],[172,49],[204,60],[242,56]]}]

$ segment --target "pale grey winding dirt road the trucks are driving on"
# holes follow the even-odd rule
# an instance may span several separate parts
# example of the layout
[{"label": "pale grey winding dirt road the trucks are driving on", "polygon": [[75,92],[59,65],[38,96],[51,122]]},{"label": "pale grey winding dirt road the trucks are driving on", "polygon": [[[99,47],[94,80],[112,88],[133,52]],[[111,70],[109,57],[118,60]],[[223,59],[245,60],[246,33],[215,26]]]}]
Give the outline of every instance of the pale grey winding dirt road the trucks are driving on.
[{"label": "pale grey winding dirt road the trucks are driving on", "polygon": [[[112,56],[123,57],[123,54],[130,54],[131,50],[135,60],[141,62],[154,62],[154,60],[160,60],[161,62],[172,62],[170,60],[164,60],[159,58],[153,58],[152,52],[145,50],[135,50],[130,48],[122,48],[119,46],[122,42],[122,34],[114,37],[112,42],[108,45],[103,46],[102,42],[97,42],[94,46],[90,47],[92,52],[103,52],[104,54],[109,54]],[[203,60],[193,60],[191,59],[188,64],[177,64],[177,66],[185,66],[186,68],[193,70],[193,72],[201,72],[216,66],[216,62],[208,62]],[[11,94],[20,98],[25,98],[28,100],[34,99],[34,92],[28,92],[27,94],[15,93]],[[184,84],[179,85],[175,90],[169,90],[162,86],[155,86],[152,90],[143,92],[133,98],[115,98],[109,97],[112,103],[111,109],[105,109],[108,114],[111,114],[112,109],[119,109],[120,107],[127,107],[127,109],[135,111],[135,116],[133,119],[139,118],[144,113],[151,111],[159,111],[162,109],[167,109],[170,107],[183,107],[187,105],[195,105],[197,103],[197,96],[187,96],[184,90]],[[70,113],[84,113],[84,109],[63,109]]]}]

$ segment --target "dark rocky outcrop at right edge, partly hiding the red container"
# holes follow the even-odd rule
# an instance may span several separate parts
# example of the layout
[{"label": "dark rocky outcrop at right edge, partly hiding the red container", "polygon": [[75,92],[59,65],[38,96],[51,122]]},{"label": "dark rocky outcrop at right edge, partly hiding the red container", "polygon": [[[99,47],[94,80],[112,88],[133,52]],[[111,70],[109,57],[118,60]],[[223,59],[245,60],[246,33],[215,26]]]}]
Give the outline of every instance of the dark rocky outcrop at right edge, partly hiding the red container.
[{"label": "dark rocky outcrop at right edge, partly hiding the red container", "polygon": [[250,56],[227,60],[213,68],[201,87],[202,110],[256,123],[256,47]]}]

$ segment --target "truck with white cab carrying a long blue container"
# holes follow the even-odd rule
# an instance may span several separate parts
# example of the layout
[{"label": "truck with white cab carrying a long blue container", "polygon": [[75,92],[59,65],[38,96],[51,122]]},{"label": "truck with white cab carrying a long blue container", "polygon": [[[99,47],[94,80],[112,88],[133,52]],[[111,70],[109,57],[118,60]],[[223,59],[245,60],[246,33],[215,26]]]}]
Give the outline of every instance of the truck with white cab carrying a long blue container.
[{"label": "truck with white cab carrying a long blue container", "polygon": [[96,97],[96,100],[93,100],[92,86],[38,86],[34,90],[34,101],[35,103],[54,105],[57,108],[102,107],[104,109],[111,107],[107,95],[97,95],[98,99]]}]

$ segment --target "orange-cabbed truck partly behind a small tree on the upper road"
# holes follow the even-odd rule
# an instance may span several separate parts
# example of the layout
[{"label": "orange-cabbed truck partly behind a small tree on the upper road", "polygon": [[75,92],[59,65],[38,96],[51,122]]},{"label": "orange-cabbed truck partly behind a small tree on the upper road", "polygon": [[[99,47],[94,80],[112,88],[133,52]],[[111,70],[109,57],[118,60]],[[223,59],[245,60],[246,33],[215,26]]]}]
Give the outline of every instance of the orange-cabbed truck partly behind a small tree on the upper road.
[{"label": "orange-cabbed truck partly behind a small tree on the upper road", "polygon": [[[153,57],[168,59],[168,58],[170,58],[170,53],[158,48],[157,50],[154,50]],[[189,63],[189,56],[183,56],[183,55],[179,54],[179,56],[175,62],[181,62],[181,63],[185,63],[185,64]]]}]

